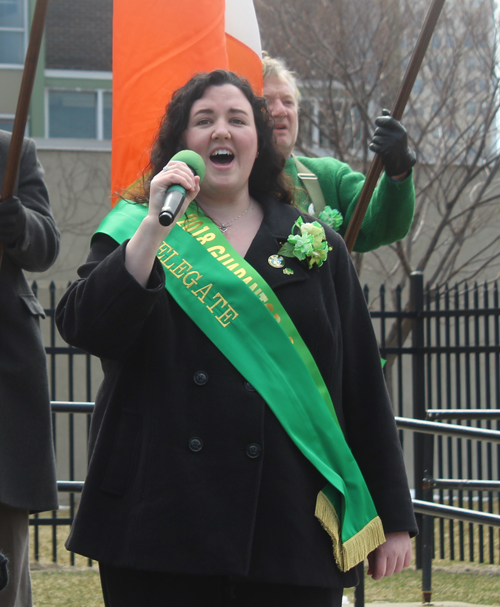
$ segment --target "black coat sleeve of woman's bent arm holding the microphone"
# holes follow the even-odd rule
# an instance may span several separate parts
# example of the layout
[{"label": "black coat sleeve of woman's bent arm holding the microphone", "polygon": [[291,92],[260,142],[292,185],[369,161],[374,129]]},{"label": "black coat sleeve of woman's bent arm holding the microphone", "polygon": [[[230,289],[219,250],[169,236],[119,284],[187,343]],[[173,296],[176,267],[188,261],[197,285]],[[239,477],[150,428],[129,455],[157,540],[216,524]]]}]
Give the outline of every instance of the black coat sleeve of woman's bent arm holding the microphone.
[{"label": "black coat sleeve of woman's bent arm holding the microphone", "polygon": [[123,360],[140,338],[159,296],[165,291],[165,274],[156,259],[146,288],[125,267],[127,242],[94,238],[87,263],[78,270],[80,280],[63,295],[56,323],[69,344],[99,356]]}]

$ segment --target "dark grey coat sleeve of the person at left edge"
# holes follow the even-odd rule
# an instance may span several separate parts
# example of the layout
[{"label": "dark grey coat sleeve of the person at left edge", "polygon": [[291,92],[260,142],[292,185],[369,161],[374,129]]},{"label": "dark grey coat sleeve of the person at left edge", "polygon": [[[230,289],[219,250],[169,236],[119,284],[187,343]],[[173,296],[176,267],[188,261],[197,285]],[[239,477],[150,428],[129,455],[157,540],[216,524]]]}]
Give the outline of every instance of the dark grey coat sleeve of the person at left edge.
[{"label": "dark grey coat sleeve of the person at left edge", "polygon": [[43,272],[50,268],[59,253],[60,235],[49,204],[35,144],[26,139],[23,144],[16,196],[26,213],[24,235],[4,253],[21,269]]}]

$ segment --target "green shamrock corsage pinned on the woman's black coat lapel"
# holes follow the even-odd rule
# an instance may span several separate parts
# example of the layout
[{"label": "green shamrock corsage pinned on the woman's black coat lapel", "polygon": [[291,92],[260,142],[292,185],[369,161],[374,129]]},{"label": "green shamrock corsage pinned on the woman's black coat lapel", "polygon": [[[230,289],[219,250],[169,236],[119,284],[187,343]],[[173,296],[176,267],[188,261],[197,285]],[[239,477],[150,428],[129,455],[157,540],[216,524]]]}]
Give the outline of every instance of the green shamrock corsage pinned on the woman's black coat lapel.
[{"label": "green shamrock corsage pinned on the woman's black coat lapel", "polygon": [[[295,230],[298,230],[294,233]],[[302,217],[299,217],[293,224],[292,234],[288,237],[285,244],[278,251],[278,255],[283,257],[296,257],[300,261],[307,261],[309,268],[314,264],[318,267],[328,255],[332,248],[325,238],[325,230],[317,221],[304,223]]]}]

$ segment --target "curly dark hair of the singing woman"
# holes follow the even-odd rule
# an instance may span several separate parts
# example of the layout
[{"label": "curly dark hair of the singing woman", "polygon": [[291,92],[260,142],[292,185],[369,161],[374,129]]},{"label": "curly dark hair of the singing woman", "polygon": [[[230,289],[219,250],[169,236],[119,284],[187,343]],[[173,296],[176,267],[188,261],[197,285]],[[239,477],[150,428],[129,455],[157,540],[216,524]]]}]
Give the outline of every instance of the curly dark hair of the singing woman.
[{"label": "curly dark hair of the singing woman", "polygon": [[283,173],[285,159],[274,147],[273,121],[267,111],[265,99],[255,95],[248,80],[226,70],[199,73],[174,92],[154,140],[149,165],[143,172],[142,192],[134,195],[137,202],[147,201],[151,179],[162,170],[174,154],[184,149],[182,136],[187,128],[193,103],[201,99],[209,87],[224,84],[238,88],[248,99],[253,110],[259,155],[255,159],[248,180],[250,196],[271,194],[278,200],[291,204],[290,182]]}]

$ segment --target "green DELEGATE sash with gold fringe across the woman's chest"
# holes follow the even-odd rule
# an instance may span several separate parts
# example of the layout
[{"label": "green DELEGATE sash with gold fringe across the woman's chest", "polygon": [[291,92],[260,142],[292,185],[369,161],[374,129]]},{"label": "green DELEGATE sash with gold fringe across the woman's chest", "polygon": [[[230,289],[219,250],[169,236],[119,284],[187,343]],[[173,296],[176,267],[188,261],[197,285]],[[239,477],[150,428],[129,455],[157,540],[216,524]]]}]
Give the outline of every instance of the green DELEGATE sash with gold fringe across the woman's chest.
[{"label": "green DELEGATE sash with gold fringe across the woman's chest", "polygon": [[[96,233],[122,243],[146,214],[146,207],[121,201]],[[327,481],[315,515],[332,538],[339,568],[351,569],[385,541],[382,523],[292,320],[271,287],[193,203],[158,258],[167,291],[255,387]]]}]

